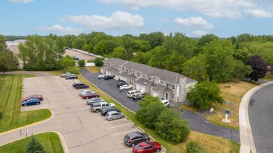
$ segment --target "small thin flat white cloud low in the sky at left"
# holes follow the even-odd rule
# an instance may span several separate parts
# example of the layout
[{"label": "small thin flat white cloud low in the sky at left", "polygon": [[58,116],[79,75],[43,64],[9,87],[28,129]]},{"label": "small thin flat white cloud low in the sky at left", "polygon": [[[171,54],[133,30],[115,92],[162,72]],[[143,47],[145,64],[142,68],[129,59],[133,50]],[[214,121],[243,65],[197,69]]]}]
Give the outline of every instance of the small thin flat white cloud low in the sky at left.
[{"label": "small thin flat white cloud low in the sky at left", "polygon": [[82,29],[75,29],[71,27],[63,27],[58,24],[53,26],[40,26],[36,28],[38,31],[49,31],[49,32],[57,32],[57,33],[64,33],[64,34],[79,34],[82,32]]}]

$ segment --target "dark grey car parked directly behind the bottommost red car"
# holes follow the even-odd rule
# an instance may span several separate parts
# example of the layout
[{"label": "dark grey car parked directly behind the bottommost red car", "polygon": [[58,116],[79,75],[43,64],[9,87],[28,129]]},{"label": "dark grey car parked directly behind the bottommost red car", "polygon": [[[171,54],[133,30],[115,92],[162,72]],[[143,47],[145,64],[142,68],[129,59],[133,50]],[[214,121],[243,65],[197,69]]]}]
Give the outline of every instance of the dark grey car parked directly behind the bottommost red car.
[{"label": "dark grey car parked directly behind the bottommost red car", "polygon": [[138,131],[135,131],[130,134],[126,134],[126,136],[124,136],[124,143],[132,147],[137,145],[138,143],[142,143],[145,141],[149,142],[149,140],[150,140],[150,137],[148,134],[140,133]]}]

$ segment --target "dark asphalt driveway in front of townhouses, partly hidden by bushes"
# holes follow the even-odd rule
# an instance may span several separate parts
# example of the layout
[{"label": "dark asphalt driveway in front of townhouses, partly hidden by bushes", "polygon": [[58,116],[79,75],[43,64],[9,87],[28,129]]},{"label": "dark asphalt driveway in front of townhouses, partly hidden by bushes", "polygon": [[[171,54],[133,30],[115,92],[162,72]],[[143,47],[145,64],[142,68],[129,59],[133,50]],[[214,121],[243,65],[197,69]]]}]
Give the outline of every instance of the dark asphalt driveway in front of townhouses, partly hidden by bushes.
[{"label": "dark asphalt driveway in front of townhouses, partly hidden by bushes", "polygon": [[[117,88],[116,85],[116,80],[99,80],[97,76],[100,73],[91,73],[86,69],[80,70],[80,73],[83,77],[94,83],[104,92],[108,93],[108,95],[111,95],[114,99],[129,108],[131,111],[138,111],[138,102],[140,101],[138,100],[138,102],[135,102],[133,99],[126,97],[127,90],[124,90],[120,93],[119,88]],[[193,131],[198,131],[213,136],[220,136],[222,138],[228,138],[230,140],[239,142],[239,130],[216,126],[208,122],[205,118],[202,117],[202,115],[193,113],[191,111],[184,111],[182,118],[189,120],[189,127]]]}]

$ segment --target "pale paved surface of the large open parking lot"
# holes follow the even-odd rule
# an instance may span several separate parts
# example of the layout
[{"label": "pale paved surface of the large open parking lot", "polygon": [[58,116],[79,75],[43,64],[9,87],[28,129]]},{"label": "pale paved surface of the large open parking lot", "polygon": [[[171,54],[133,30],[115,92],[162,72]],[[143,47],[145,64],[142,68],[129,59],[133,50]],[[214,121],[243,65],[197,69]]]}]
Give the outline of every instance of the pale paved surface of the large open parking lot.
[{"label": "pale paved surface of the large open parking lot", "polygon": [[91,112],[80,90],[72,84],[78,80],[60,77],[35,77],[24,79],[24,97],[43,95],[38,106],[24,106],[22,111],[51,108],[54,118],[29,127],[29,131],[59,131],[63,134],[69,152],[132,152],[124,144],[124,136],[140,131],[126,118],[108,121],[101,113]]}]

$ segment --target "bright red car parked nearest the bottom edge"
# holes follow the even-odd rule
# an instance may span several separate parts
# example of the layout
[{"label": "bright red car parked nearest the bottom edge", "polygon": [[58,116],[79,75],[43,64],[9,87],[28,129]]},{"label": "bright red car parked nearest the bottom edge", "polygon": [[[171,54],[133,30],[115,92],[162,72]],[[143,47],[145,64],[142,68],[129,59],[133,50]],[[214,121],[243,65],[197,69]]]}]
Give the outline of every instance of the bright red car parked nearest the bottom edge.
[{"label": "bright red car parked nearest the bottom edge", "polygon": [[133,147],[133,153],[139,153],[139,152],[149,153],[149,152],[160,152],[160,151],[161,151],[161,144],[156,142],[143,142]]}]

